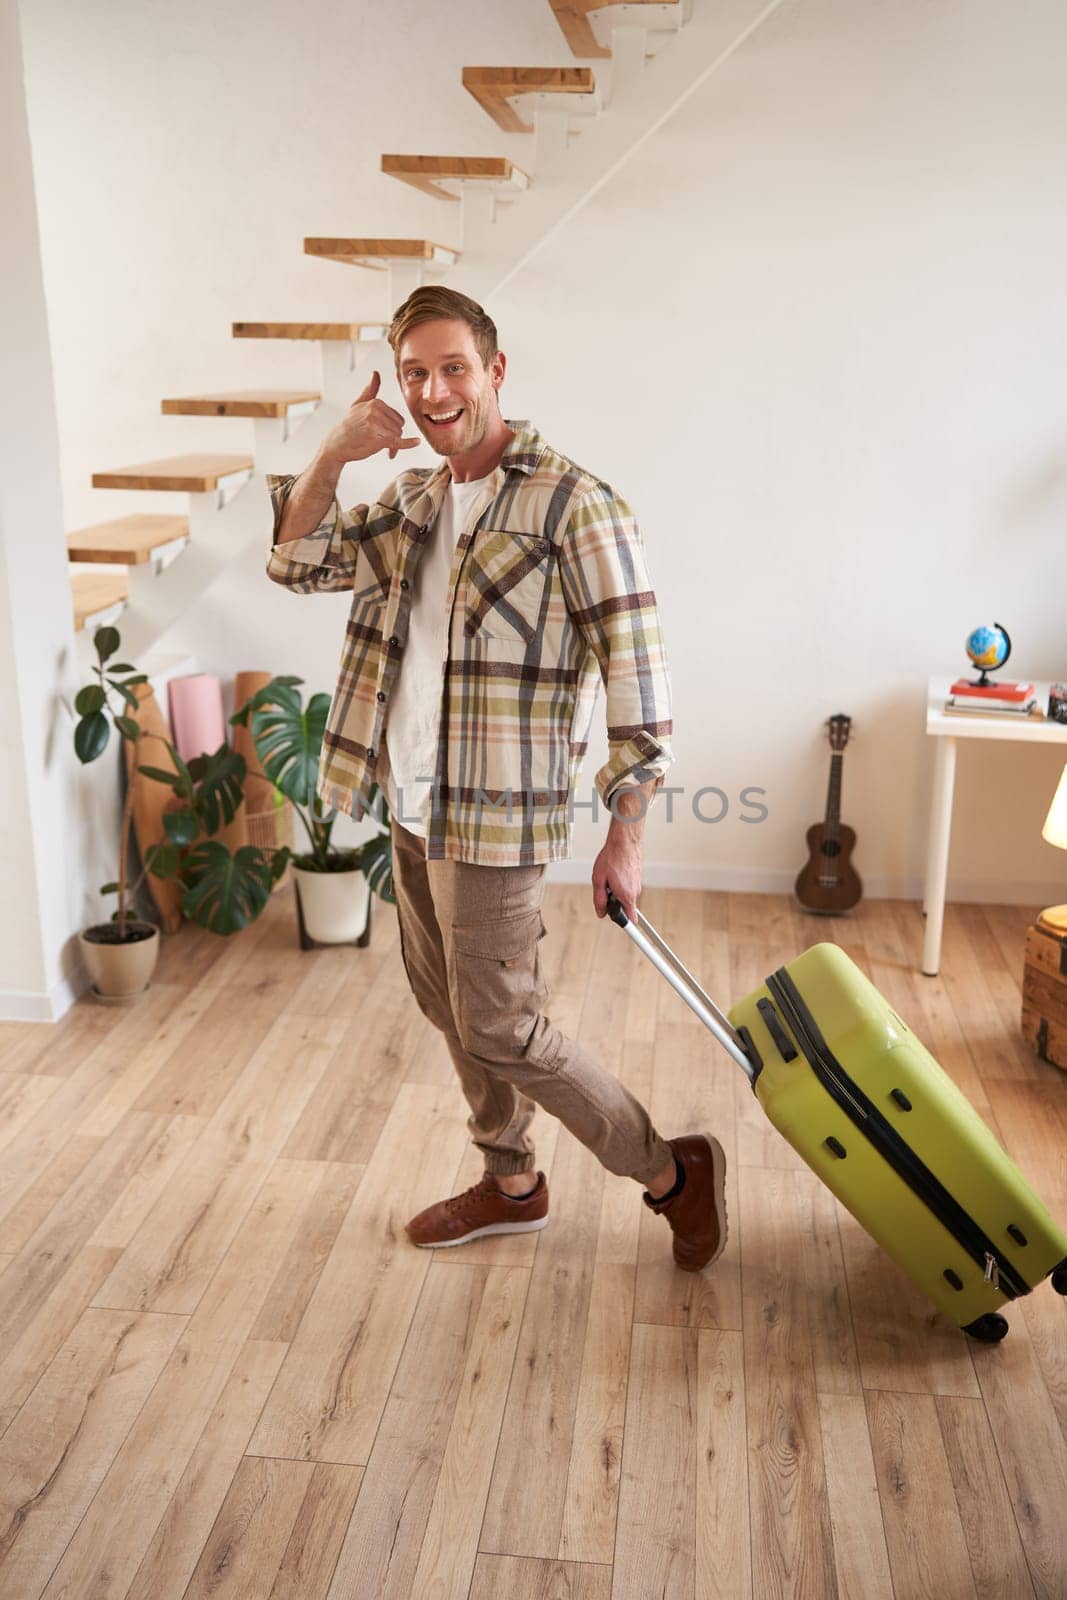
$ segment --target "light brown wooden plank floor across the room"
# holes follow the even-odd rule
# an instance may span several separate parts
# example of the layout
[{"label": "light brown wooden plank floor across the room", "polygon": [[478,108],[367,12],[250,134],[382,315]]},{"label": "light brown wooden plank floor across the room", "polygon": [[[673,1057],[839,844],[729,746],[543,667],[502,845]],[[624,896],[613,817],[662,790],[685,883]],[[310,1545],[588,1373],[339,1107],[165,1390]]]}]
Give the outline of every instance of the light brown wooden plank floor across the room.
[{"label": "light brown wooden plank floor across the room", "polygon": [[[675,1272],[549,1118],[544,1232],[411,1248],[480,1174],[464,1102],[394,914],[302,954],[290,894],[166,941],[136,1006],[0,1024],[5,1600],[1067,1595],[1048,1285],[1001,1346],[937,1317],[571,886],[549,1011],[664,1134],[718,1133],[728,1248]],[[643,909],[718,997],[838,939],[1067,1216],[1067,1075],[1019,1035],[1032,907],[950,907],[939,979],[910,904]]]}]

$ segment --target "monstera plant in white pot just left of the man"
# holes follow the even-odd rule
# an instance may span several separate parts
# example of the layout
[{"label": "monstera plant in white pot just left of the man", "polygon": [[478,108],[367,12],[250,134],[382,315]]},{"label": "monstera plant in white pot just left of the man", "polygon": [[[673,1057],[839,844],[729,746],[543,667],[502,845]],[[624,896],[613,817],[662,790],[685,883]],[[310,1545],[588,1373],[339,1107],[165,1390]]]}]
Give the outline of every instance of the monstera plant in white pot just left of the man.
[{"label": "monstera plant in white pot just left of the man", "polygon": [[330,712],[328,694],[312,694],[304,707],[302,678],[277,677],[230,717],[251,728],[262,770],[291,802],[307,834],[309,848],[286,853],[296,880],[296,910],[302,949],[315,944],[370,942],[371,894],[395,904],[389,806],[371,784],[370,814],[381,824],[362,845],[331,843],[338,811],[326,811],[317,792],[322,742]]}]

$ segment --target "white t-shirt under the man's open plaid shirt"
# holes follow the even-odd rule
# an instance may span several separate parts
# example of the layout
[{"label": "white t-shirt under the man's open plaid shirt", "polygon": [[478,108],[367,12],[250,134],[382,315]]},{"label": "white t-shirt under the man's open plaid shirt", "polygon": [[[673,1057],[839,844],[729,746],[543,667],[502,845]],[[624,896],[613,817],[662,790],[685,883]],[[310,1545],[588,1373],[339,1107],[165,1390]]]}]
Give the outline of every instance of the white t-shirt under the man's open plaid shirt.
[{"label": "white t-shirt under the man's open plaid shirt", "polygon": [[402,827],[422,838],[427,834],[432,779],[437,771],[448,648],[448,574],[456,544],[483,486],[485,478],[451,483],[442,501],[414,574],[408,638],[381,741],[378,782],[386,790],[389,810]]}]

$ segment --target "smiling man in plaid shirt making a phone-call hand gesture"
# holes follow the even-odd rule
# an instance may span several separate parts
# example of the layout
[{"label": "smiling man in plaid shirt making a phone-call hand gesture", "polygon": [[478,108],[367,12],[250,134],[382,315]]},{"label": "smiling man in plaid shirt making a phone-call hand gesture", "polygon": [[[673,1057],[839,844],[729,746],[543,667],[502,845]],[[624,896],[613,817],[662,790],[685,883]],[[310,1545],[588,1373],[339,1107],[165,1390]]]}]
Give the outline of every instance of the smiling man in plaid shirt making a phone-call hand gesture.
[{"label": "smiling man in plaid shirt making a phone-call hand gesture", "polygon": [[672,755],[656,597],[629,507],[499,410],[506,357],[486,312],[421,288],[389,342],[419,434],[443,462],[403,472],[373,506],[342,512],[349,461],[416,446],[379,374],[299,477],[270,478],[267,574],[301,594],[349,590],[341,675],[318,794],[362,814],[378,781],[392,810],[400,944],[411,990],[442,1030],[485,1158],[472,1189],[408,1222],[416,1245],[544,1227],[534,1102],[613,1173],[645,1186],[680,1267],[726,1240],[717,1139],[664,1141],[643,1106],[542,1006],[547,861],[569,853],[569,805],[600,680],[609,758],[597,789],[613,816],[597,856],[633,915],[645,810]]}]

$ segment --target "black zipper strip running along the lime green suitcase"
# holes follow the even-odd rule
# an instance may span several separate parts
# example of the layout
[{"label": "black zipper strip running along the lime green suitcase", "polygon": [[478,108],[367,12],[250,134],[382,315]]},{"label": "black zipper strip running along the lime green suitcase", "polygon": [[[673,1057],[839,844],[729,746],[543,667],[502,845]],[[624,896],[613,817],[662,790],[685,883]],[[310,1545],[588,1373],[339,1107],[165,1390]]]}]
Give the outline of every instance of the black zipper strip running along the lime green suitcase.
[{"label": "black zipper strip running along the lime green suitcase", "polygon": [[992,1283],[1006,1299],[1017,1299],[1030,1293],[1030,1285],[1016,1272],[984,1229],[968,1211],[952,1197],[944,1184],[931,1173],[925,1162],[915,1154],[905,1139],[891,1126],[878,1107],[864,1094],[859,1085],[845,1072],[845,1067],[827,1046],[816,1019],[805,1005],[797,984],[789,971],[781,966],[766,981],[768,989],[785,1021],[803,1046],[808,1061],[837,1104],[848,1118],[865,1134],[878,1154],[893,1166],[904,1182],[933,1211],[939,1222],[952,1234],[955,1242],[966,1250],[968,1256],[982,1267],[987,1283]]}]

